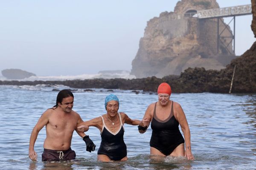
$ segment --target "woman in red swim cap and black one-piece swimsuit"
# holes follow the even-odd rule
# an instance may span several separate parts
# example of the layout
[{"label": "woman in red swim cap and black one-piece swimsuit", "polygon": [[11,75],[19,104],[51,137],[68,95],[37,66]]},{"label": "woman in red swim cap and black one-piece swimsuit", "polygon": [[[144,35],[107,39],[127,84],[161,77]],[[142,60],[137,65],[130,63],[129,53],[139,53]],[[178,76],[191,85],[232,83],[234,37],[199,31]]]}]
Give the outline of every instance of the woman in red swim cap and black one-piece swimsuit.
[{"label": "woman in red swim cap and black one-piece swimsuit", "polygon": [[[190,131],[183,109],[177,102],[170,100],[172,93],[169,84],[163,82],[157,89],[158,101],[148,106],[139,132],[145,133],[151,122],[150,154],[158,156],[186,156],[193,160]],[[185,141],[180,133],[183,131]],[[184,149],[184,142],[186,147]]]}]

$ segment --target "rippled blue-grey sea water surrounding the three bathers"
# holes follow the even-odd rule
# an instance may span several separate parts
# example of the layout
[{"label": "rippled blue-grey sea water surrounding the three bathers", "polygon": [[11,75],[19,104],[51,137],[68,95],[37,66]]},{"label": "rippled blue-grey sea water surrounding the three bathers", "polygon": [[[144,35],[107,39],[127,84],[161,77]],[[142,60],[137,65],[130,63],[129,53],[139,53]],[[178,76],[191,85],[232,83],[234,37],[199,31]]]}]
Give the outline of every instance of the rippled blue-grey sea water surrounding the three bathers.
[{"label": "rippled blue-grey sea water surrounding the three bathers", "polygon": [[[84,141],[74,132],[72,149],[75,162],[46,163],[41,161],[45,128],[35,143],[38,161],[28,157],[29,137],[41,114],[55,104],[58,91],[64,86],[1,86],[0,85],[0,162],[1,170],[205,170],[256,169],[256,95],[255,94],[172,94],[180,103],[191,131],[194,161],[184,158],[151,159],[149,140],[151,129],[138,133],[136,126],[125,124],[124,140],[128,161],[97,162],[100,132],[90,127],[87,134],[96,144],[96,150],[86,152]],[[131,119],[142,119],[147,106],[157,101],[157,95],[135,94],[131,91],[93,89],[94,92],[74,92],[73,110],[86,121],[105,112],[104,99],[110,93],[119,97],[119,111]],[[182,133],[183,134],[183,133]]]}]

